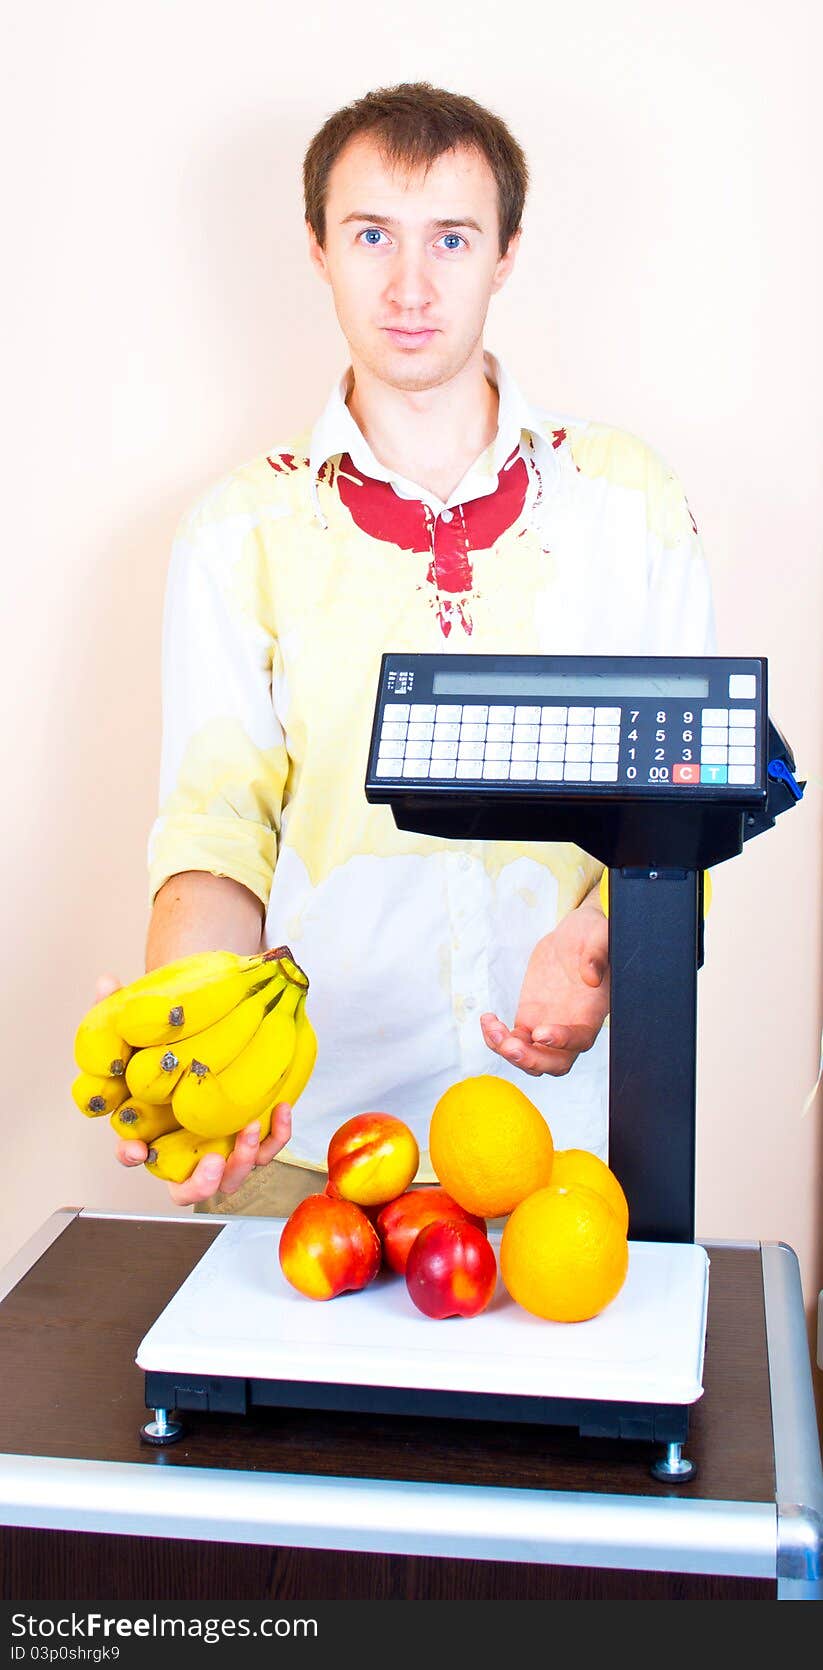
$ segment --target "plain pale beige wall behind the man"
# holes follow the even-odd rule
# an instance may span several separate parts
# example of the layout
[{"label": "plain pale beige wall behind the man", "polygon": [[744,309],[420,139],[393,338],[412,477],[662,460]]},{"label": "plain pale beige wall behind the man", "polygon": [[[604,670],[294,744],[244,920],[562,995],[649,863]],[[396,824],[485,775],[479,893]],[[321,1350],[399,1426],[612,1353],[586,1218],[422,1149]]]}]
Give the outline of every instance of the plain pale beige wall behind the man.
[{"label": "plain pale beige wall behind the man", "polygon": [[644,436],[678,469],[721,648],[768,655],[773,716],[810,777],[805,805],[714,877],[698,1227],[788,1241],[811,1304],[820,8],[419,0],[402,25],[364,0],[45,0],[10,30],[0,1258],[65,1202],[170,1209],[67,1094],[95,974],[142,967],[169,543],[192,498],[309,421],[342,369],[304,254],[311,134],[371,85],[427,77],[492,104],[531,159],[489,346],[529,394]]}]

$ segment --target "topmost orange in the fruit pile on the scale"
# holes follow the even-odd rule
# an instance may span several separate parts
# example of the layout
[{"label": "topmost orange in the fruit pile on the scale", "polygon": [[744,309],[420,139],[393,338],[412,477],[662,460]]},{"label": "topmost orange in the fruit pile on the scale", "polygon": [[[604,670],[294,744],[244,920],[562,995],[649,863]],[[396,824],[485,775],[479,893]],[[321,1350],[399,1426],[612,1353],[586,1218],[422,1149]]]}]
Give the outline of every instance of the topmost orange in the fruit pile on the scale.
[{"label": "topmost orange in the fruit pile on the scale", "polygon": [[539,1107],[516,1084],[484,1072],[441,1096],[429,1156],[457,1206],[477,1217],[502,1217],[549,1181],[554,1142]]}]

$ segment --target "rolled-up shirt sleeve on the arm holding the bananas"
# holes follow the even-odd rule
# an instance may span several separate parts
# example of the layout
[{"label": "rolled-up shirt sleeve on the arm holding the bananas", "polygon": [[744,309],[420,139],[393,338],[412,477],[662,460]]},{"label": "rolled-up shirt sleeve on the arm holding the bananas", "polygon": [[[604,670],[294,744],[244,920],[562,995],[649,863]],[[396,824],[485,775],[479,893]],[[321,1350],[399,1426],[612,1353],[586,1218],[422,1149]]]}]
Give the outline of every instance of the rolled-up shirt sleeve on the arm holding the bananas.
[{"label": "rolled-up shirt sleeve on the arm holding the bananas", "polygon": [[182,870],[232,877],[269,902],[289,772],[274,653],[254,518],[212,496],[180,523],[169,564],[152,903]]}]

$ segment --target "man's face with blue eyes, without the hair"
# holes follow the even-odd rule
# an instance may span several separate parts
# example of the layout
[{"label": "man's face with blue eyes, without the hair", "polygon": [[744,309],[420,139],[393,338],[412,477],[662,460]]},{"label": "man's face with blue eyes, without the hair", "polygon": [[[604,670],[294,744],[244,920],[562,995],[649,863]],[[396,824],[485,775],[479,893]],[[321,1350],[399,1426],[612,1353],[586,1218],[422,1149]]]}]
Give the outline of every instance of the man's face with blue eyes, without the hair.
[{"label": "man's face with blue eyes, without the hair", "polygon": [[479,152],[446,152],[409,175],[371,139],[351,140],[329,177],[326,247],[309,229],[309,254],[356,372],[421,391],[462,371],[514,264],[519,234],[501,256],[497,227],[497,185]]}]

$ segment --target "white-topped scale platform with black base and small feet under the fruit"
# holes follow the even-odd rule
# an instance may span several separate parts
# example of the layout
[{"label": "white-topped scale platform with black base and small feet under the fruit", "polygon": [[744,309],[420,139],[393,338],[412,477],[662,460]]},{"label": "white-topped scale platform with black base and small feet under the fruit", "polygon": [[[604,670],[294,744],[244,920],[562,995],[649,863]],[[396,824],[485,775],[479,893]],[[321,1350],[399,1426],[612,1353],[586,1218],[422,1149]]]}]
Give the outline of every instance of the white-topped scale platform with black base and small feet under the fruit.
[{"label": "white-topped scale platform with black base and small feet under the fruit", "polygon": [[140,1341],[145,1403],[157,1411],[145,1441],[179,1436],[170,1411],[175,1421],[264,1409],[486,1421],[651,1445],[649,1463],[668,1453],[666,1481],[684,1480],[674,1463],[703,1389],[703,1247],[631,1242],[614,1304],[564,1329],[541,1326],[502,1286],[469,1328],[432,1321],[387,1271],[362,1293],[307,1304],[277,1246],[274,1222],[227,1224]]}]

